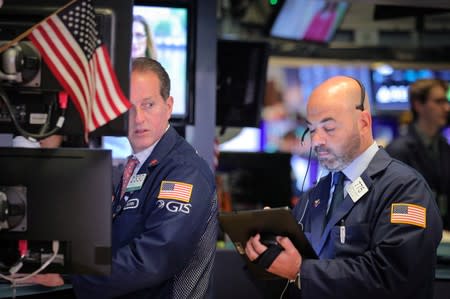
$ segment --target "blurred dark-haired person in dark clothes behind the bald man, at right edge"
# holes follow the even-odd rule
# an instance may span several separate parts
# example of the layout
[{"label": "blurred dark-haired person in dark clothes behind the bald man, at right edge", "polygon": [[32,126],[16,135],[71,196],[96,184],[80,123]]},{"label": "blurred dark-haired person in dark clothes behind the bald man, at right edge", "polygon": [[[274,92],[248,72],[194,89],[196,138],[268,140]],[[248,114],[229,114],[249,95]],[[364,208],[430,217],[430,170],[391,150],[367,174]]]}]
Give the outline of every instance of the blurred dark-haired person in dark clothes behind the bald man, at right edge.
[{"label": "blurred dark-haired person in dark clothes behind the bald man, at right edge", "polygon": [[443,80],[414,82],[408,92],[413,121],[407,133],[393,140],[386,151],[425,177],[439,206],[444,229],[450,230],[450,146],[441,134],[448,125],[447,92]]}]

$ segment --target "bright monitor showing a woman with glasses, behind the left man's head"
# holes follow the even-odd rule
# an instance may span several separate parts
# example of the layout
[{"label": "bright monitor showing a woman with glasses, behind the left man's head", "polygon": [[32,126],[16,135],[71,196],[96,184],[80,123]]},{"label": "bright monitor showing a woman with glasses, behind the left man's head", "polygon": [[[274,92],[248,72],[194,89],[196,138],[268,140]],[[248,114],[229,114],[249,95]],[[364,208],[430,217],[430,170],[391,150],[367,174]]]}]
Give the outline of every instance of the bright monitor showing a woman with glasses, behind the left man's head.
[{"label": "bright monitor showing a woman with glasses, behind the left man's head", "polygon": [[174,98],[172,121],[193,121],[193,43],[187,4],[135,1],[131,57],[151,57],[166,69]]}]

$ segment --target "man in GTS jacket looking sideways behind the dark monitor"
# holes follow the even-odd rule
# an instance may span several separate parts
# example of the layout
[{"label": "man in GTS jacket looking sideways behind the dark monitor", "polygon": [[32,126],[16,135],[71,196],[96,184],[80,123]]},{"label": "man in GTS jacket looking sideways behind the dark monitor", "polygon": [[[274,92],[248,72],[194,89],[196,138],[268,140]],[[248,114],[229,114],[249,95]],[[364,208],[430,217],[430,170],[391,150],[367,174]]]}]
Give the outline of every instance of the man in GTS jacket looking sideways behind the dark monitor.
[{"label": "man in GTS jacket looking sideways behind the dark monitor", "polygon": [[[129,161],[135,165],[125,167],[124,180],[129,180],[113,198],[112,273],[73,276],[75,294],[81,299],[211,298],[218,233],[213,173],[169,124],[174,100],[164,68],[153,59],[136,58],[130,89]],[[40,275],[33,282],[54,286],[58,276]]]}]

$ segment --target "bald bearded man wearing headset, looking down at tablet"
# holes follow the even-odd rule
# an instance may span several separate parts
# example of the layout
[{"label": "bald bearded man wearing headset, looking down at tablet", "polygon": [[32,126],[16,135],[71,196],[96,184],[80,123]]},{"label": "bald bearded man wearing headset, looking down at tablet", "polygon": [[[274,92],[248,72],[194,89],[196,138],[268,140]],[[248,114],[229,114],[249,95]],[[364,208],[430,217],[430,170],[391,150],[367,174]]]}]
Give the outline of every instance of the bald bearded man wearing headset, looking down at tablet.
[{"label": "bald bearded man wearing headset, looking down at tablet", "polygon": [[[267,271],[291,282],[291,298],[433,298],[439,211],[423,177],[374,141],[362,84],[338,76],[319,85],[307,124],[329,174],[293,215],[319,259],[303,259],[289,238],[277,236],[284,250]],[[267,247],[257,234],[245,250],[258,262]]]}]

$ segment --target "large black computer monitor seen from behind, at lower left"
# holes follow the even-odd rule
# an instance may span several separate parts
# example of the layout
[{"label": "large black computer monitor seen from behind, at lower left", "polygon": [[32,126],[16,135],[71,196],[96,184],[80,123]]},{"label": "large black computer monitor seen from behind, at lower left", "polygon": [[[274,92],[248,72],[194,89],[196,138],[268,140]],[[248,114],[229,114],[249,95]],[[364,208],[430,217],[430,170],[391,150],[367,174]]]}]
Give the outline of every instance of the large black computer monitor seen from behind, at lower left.
[{"label": "large black computer monitor seen from behind, at lower left", "polygon": [[[16,241],[28,240],[24,268],[27,261],[40,266],[42,257],[34,258],[39,252],[32,250],[35,243],[59,240],[61,256],[53,269],[108,275],[111,151],[5,147],[0,148],[0,165],[0,206],[10,211],[5,215],[0,209],[0,265],[11,259],[8,252],[17,251]],[[6,244],[12,248],[6,250]]]}]

